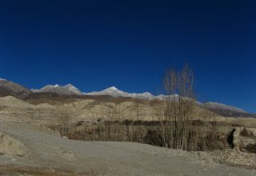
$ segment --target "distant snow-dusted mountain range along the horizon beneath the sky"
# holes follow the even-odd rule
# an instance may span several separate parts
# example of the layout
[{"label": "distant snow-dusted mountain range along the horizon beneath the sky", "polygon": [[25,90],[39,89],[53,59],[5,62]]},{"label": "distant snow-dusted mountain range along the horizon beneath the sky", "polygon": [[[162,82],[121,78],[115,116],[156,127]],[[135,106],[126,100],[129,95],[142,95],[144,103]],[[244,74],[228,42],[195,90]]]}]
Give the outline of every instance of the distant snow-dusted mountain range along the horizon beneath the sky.
[{"label": "distant snow-dusted mountain range along the horizon beneath the sky", "polygon": [[[61,94],[61,95],[75,95],[78,97],[82,96],[102,96],[102,95],[109,95],[114,98],[138,98],[142,100],[154,100],[156,98],[164,98],[165,95],[160,94],[160,95],[153,95],[150,94],[149,92],[144,92],[144,93],[128,93],[122,90],[118,90],[118,88],[111,86],[105,90],[102,91],[94,91],[90,93],[83,93],[82,91],[78,90],[75,86],[71,84],[67,84],[66,86],[59,86],[58,84],[56,85],[47,85],[43,86],[41,89],[36,90],[36,89],[31,89],[28,90],[26,89],[25,86],[18,85],[17,83],[10,82],[6,79],[0,78],[0,97],[4,97],[7,95],[12,95],[17,98],[26,98],[27,96],[31,96],[33,94],[36,96],[37,94],[43,94],[43,93],[52,93],[52,94]],[[173,96],[178,96],[178,94],[175,94]],[[227,106],[222,103],[218,102],[206,102],[206,103],[201,103],[198,102],[198,106],[205,106],[207,109],[210,109],[214,111],[217,114],[221,114],[223,116],[245,116],[249,117],[252,114],[248,114],[245,110],[242,110],[238,107],[235,106]]]}]

